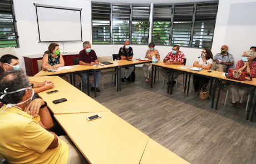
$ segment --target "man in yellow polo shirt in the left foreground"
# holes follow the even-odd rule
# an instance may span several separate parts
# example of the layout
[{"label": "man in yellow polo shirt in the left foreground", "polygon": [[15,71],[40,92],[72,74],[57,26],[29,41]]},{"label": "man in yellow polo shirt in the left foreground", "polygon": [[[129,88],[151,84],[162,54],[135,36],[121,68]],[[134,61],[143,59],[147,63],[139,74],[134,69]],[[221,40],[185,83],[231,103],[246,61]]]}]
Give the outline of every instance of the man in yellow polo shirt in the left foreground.
[{"label": "man in yellow polo shirt in the left foreground", "polygon": [[[4,103],[0,109],[0,156],[9,163],[68,163],[74,160],[74,163],[83,163],[85,160],[75,147],[45,130],[27,114],[33,95],[33,88],[23,71],[0,74],[0,98]],[[38,103],[41,120],[52,122],[46,103],[42,100]]]}]

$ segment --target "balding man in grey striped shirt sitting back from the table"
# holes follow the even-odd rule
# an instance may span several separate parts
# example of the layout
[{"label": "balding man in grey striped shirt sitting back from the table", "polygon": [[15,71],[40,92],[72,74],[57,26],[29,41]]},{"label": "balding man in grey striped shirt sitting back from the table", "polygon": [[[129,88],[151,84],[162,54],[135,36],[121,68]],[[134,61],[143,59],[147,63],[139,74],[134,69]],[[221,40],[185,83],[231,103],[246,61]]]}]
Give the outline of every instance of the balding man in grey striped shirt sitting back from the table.
[{"label": "balding man in grey striped shirt sitting back from the table", "polygon": [[227,72],[229,66],[233,66],[234,58],[231,53],[228,53],[228,46],[223,45],[220,48],[221,52],[213,57],[213,70],[219,72]]}]

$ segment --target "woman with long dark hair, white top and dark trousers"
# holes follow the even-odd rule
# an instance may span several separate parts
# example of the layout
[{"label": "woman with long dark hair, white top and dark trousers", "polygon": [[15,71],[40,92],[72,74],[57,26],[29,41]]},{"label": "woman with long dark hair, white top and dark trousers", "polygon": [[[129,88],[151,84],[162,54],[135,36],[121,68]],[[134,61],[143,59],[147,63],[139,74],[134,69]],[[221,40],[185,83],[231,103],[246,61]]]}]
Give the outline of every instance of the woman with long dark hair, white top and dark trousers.
[{"label": "woman with long dark hair, white top and dark trousers", "polygon": [[[201,51],[201,57],[196,59],[193,66],[199,67],[203,69],[210,69],[211,65],[213,64],[213,53],[209,48],[204,48]],[[195,92],[200,92],[201,88],[209,82],[209,78],[201,77],[201,76],[193,76],[193,86]]]}]

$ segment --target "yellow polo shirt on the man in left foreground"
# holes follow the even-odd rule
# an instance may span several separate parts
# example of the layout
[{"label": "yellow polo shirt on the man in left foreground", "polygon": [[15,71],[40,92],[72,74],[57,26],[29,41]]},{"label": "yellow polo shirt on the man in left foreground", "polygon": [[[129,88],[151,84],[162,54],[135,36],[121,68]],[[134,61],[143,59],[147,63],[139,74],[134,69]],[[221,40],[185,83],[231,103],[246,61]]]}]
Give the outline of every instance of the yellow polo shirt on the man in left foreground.
[{"label": "yellow polo shirt on the man in left foreground", "polygon": [[0,155],[9,163],[67,163],[67,143],[47,149],[54,136],[19,108],[0,109]]}]

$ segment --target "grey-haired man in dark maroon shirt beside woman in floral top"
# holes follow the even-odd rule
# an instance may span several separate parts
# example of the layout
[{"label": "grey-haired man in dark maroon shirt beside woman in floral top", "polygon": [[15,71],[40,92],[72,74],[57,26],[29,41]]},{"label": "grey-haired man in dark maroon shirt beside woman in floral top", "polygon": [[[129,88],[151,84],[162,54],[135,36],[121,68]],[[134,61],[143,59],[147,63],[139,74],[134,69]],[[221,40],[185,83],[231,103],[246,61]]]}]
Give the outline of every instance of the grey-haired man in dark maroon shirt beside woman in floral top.
[{"label": "grey-haired man in dark maroon shirt beside woman in floral top", "polygon": [[[91,49],[91,43],[88,41],[83,42],[83,50],[79,52],[78,59],[79,59],[80,65],[93,66],[95,64],[96,65],[99,64],[97,55],[95,51]],[[90,71],[90,73],[93,73],[93,71]],[[87,73],[81,73],[81,75],[82,75],[82,85],[84,85],[87,80]],[[96,77],[95,79],[96,86],[94,86],[94,82],[93,82],[91,90],[94,91],[95,90],[94,87],[96,87],[96,91],[100,92],[98,88],[99,81],[100,81],[100,71],[96,71],[95,77]]]}]

